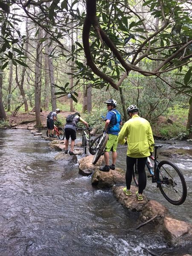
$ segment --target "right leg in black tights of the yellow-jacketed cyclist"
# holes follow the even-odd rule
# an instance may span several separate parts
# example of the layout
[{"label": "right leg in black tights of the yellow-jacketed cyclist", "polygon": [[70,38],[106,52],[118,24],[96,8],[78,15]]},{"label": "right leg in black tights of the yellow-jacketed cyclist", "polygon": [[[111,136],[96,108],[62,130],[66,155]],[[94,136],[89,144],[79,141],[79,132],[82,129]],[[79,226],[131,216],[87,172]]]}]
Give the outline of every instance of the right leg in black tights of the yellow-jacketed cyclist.
[{"label": "right leg in black tights of the yellow-jacketed cyclist", "polygon": [[137,171],[138,171],[138,184],[139,191],[138,194],[142,195],[143,190],[146,187],[147,178],[145,173],[145,164],[147,161],[147,157],[137,158]]}]

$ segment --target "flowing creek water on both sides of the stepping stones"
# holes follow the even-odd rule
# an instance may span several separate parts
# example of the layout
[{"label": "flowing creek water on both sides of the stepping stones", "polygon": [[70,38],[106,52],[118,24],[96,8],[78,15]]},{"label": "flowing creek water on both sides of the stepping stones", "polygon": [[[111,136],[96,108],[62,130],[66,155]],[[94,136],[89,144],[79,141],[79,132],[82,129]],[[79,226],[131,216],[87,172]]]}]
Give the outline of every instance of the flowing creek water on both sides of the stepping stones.
[{"label": "flowing creek water on both sides of the stepping stones", "polygon": [[[146,249],[158,256],[192,254],[190,244],[167,247],[151,224],[136,230],[138,213],[122,207],[111,189],[93,187],[78,164],[54,161],[58,152],[48,143],[28,130],[0,130],[0,256],[149,256]],[[165,145],[161,150],[191,148],[188,142],[156,143]],[[126,147],[118,153],[116,167],[125,169]],[[192,160],[174,161],[186,179],[186,202],[169,204],[150,180],[145,195],[192,223]]]}]

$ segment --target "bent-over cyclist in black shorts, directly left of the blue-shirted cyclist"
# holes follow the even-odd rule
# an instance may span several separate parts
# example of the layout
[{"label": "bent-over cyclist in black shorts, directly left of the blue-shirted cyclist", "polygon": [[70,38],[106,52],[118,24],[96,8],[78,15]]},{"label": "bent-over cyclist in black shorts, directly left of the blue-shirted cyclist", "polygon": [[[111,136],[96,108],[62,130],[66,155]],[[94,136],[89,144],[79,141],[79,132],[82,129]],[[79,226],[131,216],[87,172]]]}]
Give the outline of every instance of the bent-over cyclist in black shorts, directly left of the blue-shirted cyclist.
[{"label": "bent-over cyclist in black shorts, directly left of the blue-shirted cyclist", "polygon": [[76,140],[76,125],[78,122],[82,122],[87,128],[89,128],[89,125],[87,122],[85,122],[79,112],[76,112],[74,114],[68,115],[66,118],[66,124],[65,124],[65,154],[68,152],[68,146],[69,146],[69,139],[71,137],[71,148],[69,151],[70,155],[74,155],[73,148],[75,145]]}]

